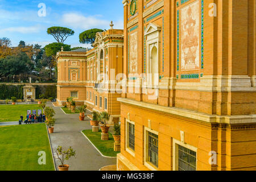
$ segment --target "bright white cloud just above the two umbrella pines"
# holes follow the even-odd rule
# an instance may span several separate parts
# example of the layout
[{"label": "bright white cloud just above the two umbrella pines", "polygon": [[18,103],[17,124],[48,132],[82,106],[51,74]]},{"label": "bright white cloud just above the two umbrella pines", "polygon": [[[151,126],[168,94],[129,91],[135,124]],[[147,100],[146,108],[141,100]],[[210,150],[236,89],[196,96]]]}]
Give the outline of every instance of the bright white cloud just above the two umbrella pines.
[{"label": "bright white cloud just above the two umbrella pines", "polygon": [[[77,13],[67,13],[63,15],[63,24],[73,27],[73,28],[109,28],[110,20],[104,20],[100,18],[100,15],[95,16],[84,16]],[[116,24],[114,22],[114,28],[122,28],[122,20],[118,21]]]}]

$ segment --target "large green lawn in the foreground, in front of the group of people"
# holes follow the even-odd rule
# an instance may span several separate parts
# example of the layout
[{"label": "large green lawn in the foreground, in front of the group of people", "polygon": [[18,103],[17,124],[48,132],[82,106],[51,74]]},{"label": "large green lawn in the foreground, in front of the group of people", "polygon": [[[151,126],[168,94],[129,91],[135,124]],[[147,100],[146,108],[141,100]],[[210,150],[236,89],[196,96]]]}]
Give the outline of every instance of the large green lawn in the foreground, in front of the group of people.
[{"label": "large green lawn in the foreground, in front of the group of people", "polygon": [[[0,127],[0,171],[54,171],[46,124]],[[39,165],[39,151],[46,165]]]}]

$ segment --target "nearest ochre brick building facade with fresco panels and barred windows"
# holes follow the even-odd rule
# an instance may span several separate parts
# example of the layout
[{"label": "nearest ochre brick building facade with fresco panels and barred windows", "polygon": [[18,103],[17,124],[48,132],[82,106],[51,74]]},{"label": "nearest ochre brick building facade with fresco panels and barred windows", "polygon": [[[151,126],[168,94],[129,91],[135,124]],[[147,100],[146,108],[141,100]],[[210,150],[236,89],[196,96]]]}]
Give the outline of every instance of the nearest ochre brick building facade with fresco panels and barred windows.
[{"label": "nearest ochre brick building facade with fresco panels and barred windows", "polygon": [[118,170],[256,170],[255,1],[123,0]]}]

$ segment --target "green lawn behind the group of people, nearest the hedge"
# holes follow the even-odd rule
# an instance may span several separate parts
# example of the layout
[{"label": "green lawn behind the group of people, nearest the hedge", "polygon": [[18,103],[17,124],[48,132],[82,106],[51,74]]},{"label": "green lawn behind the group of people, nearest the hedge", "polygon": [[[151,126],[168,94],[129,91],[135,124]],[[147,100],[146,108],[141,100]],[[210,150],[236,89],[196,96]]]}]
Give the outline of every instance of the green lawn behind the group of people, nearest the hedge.
[{"label": "green lawn behind the group of people, nearest the hedge", "polygon": [[27,110],[42,109],[38,104],[31,105],[0,105],[0,122],[19,121],[20,115],[23,114],[25,120]]}]

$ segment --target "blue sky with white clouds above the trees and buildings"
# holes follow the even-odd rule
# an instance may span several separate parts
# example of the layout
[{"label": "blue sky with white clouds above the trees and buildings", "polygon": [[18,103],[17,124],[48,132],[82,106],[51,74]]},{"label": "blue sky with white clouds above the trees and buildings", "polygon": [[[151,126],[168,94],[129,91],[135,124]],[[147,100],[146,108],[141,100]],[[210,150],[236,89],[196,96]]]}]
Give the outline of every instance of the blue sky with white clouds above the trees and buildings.
[{"label": "blue sky with white clouds above the trees and buildings", "polygon": [[[40,3],[46,5],[45,17],[38,15]],[[44,47],[56,42],[47,28],[61,26],[75,31],[65,44],[88,47],[79,43],[79,34],[90,28],[108,30],[111,20],[114,28],[123,29],[121,0],[0,0],[0,38],[9,38],[12,46],[23,40]]]}]

